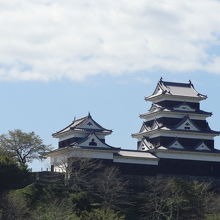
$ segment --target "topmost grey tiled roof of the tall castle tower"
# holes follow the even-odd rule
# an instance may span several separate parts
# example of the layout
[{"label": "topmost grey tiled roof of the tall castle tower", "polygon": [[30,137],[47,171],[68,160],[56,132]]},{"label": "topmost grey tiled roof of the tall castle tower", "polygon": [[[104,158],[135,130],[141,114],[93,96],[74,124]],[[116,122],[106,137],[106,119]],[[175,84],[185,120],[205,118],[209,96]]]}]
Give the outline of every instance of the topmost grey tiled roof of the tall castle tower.
[{"label": "topmost grey tiled roof of the tall castle tower", "polygon": [[206,95],[202,95],[195,90],[191,81],[189,81],[189,83],[166,82],[161,78],[153,94],[149,97],[146,97],[145,99],[148,100],[151,97],[156,97],[162,94],[200,99],[207,98]]}]

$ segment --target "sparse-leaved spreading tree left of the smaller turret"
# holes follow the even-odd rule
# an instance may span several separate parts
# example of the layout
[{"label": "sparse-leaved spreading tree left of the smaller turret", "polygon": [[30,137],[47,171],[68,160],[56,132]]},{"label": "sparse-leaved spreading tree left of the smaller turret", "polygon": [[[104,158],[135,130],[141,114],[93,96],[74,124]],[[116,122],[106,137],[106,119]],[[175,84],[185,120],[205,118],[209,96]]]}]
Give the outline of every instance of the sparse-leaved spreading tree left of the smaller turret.
[{"label": "sparse-leaved spreading tree left of the smaller turret", "polygon": [[22,166],[33,159],[42,159],[50,150],[50,146],[43,144],[42,139],[34,132],[26,133],[20,129],[1,135],[0,148],[13,154]]}]

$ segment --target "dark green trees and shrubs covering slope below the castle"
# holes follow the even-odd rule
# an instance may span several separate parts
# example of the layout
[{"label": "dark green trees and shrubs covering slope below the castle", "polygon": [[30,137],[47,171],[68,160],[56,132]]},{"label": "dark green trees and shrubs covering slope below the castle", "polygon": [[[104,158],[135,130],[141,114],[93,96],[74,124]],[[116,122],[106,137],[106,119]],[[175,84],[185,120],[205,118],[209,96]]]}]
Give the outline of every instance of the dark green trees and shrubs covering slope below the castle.
[{"label": "dark green trees and shrubs covering slope below the castle", "polygon": [[[8,158],[9,165],[11,163],[20,169],[7,153],[4,155],[4,163]],[[67,177],[72,176],[65,183],[37,182],[2,194],[0,220],[219,218],[218,181],[214,184],[183,178],[125,177],[117,168],[105,167],[100,162],[97,166],[88,160],[75,163],[78,167],[68,173]],[[9,170],[8,173],[13,172]]]}]

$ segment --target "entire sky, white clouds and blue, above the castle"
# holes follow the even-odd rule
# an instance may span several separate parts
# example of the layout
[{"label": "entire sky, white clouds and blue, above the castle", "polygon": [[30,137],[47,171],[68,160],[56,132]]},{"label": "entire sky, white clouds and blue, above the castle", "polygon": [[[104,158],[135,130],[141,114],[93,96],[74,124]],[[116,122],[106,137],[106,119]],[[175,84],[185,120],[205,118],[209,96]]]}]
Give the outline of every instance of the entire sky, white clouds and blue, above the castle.
[{"label": "entire sky, white clouds and blue, above the castle", "polygon": [[110,144],[135,148],[161,76],[191,79],[220,130],[219,39],[217,0],[0,0],[0,131],[56,147],[51,133],[91,111]]}]

